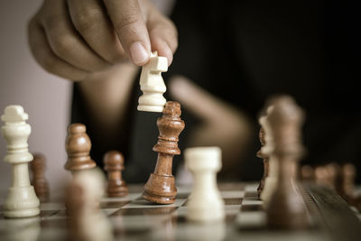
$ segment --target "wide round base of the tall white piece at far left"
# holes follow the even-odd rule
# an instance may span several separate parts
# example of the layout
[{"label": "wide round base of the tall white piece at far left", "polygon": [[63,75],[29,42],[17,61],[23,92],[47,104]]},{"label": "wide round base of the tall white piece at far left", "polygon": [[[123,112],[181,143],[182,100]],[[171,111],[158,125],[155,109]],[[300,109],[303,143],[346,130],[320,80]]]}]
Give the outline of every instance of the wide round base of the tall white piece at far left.
[{"label": "wide round base of the tall white piece at far left", "polygon": [[27,218],[40,213],[40,201],[35,195],[32,186],[9,188],[4,203],[4,216],[6,218]]}]

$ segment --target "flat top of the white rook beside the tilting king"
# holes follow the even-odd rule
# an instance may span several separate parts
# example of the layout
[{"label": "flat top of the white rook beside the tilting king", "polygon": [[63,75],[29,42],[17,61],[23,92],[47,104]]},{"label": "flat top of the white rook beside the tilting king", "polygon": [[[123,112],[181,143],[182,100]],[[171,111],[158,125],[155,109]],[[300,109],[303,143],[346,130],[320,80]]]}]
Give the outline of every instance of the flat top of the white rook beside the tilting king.
[{"label": "flat top of the white rook beside the tilting king", "polygon": [[217,146],[193,147],[184,151],[186,167],[192,171],[220,171],[221,149]]}]

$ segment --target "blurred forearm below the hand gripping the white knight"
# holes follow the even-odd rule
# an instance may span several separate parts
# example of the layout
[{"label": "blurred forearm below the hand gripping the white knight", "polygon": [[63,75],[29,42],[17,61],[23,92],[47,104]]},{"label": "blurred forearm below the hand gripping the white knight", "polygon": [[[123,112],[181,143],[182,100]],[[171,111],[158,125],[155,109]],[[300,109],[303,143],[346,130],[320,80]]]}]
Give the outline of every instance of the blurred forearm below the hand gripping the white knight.
[{"label": "blurred forearm below the hand gripping the white knight", "polygon": [[79,83],[91,124],[103,134],[115,134],[125,123],[137,70],[130,63],[120,64]]}]

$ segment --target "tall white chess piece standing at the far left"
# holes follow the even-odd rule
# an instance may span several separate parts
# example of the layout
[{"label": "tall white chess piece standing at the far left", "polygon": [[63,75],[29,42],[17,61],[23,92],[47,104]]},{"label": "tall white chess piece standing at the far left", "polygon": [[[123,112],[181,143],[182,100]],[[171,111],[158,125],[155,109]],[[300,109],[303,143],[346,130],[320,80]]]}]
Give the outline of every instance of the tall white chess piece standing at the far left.
[{"label": "tall white chess piece standing at the far left", "polygon": [[40,202],[29,179],[28,162],[32,161],[32,154],[29,153],[27,140],[32,128],[25,122],[28,118],[21,106],[8,106],[1,116],[5,122],[2,131],[7,143],[4,162],[13,165],[12,185],[4,203],[7,218],[26,218],[40,213]]}]

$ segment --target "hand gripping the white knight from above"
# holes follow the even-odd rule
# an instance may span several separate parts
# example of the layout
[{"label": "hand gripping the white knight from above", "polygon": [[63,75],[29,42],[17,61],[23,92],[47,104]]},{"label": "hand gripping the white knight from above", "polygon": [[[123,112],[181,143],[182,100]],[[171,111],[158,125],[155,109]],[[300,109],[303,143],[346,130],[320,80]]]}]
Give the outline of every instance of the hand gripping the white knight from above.
[{"label": "hand gripping the white knight from above", "polygon": [[28,26],[43,69],[87,79],[124,60],[145,64],[158,51],[171,64],[177,30],[148,0],[44,0]]}]

